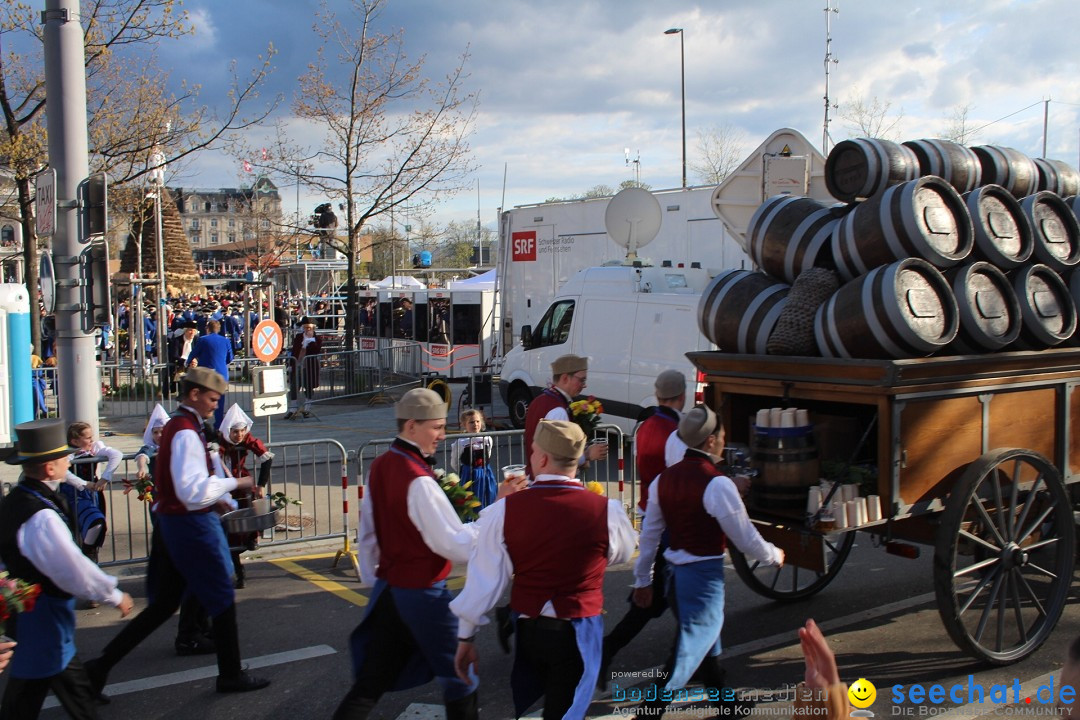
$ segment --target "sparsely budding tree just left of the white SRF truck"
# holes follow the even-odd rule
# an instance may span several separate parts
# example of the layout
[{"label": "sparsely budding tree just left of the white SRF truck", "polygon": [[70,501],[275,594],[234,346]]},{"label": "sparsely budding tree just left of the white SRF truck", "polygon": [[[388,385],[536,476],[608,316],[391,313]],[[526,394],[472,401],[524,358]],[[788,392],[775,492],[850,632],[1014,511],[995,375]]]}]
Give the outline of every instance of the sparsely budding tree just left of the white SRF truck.
[{"label": "sparsely budding tree just left of the white SRF truck", "polygon": [[[395,208],[422,213],[472,187],[474,169],[468,137],[477,97],[464,89],[468,54],[433,82],[423,74],[426,58],[406,55],[402,31],[375,30],[386,1],[352,0],[340,16],[323,3],[314,24],[318,56],[300,78],[293,103],[301,124],[321,130],[323,137],[311,150],[286,142],[271,153],[276,159],[262,163],[298,176],[343,209],[345,236],[332,242],[348,259],[350,318],[356,313],[365,226]],[[287,128],[284,133],[288,137]],[[287,158],[308,161],[301,166],[281,160]],[[354,332],[354,324],[346,323],[346,348],[353,347]]]}]

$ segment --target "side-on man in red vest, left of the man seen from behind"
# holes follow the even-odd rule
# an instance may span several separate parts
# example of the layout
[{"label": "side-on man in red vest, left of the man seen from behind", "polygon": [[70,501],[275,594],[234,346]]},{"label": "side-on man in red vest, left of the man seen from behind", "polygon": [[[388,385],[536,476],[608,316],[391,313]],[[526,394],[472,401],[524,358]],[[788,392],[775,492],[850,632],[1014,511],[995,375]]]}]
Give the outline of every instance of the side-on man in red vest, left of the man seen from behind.
[{"label": "side-on man in red vest, left of the man seen from behind", "polygon": [[[374,586],[364,620],[350,637],[355,681],[335,720],[367,718],[379,697],[435,678],[448,720],[477,717],[475,679],[454,669],[457,620],[446,576],[476,540],[433,477],[446,437],[446,403],[426,388],[394,407],[397,437],[375,459],[360,511],[360,574]],[[514,488],[502,484],[500,494]]]}]

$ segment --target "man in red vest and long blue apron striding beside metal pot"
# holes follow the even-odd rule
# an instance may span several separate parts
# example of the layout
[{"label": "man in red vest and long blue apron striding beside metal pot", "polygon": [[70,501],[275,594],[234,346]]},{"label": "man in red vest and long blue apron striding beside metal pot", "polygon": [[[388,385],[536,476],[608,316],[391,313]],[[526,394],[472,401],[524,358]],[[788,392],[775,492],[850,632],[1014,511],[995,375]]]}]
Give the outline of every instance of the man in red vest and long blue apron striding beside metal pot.
[{"label": "man in red vest and long blue apron striding beside metal pot", "polygon": [[221,693],[270,684],[245,673],[240,663],[232,557],[220,517],[214,512],[229,492],[254,485],[251,477],[230,477],[220,456],[207,447],[204,421],[214,413],[226,388],[225,378],[208,367],[188,370],[180,385],[180,406],[161,434],[153,473],[154,512],[165,549],[187,590],[213,619],[217,691]]}]

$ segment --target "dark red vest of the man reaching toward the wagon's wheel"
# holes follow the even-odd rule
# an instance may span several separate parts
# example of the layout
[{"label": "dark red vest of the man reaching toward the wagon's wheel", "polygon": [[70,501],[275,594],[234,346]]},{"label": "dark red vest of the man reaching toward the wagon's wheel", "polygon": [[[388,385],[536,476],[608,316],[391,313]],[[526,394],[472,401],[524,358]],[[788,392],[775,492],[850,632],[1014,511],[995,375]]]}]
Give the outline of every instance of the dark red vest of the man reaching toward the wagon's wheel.
[{"label": "dark red vest of the man reaching toward the wagon's wheel", "polygon": [[727,545],[716,518],[705,512],[705,488],[719,475],[716,465],[701,454],[687,453],[660,477],[660,511],[667,526],[667,546],[699,556],[723,555]]}]

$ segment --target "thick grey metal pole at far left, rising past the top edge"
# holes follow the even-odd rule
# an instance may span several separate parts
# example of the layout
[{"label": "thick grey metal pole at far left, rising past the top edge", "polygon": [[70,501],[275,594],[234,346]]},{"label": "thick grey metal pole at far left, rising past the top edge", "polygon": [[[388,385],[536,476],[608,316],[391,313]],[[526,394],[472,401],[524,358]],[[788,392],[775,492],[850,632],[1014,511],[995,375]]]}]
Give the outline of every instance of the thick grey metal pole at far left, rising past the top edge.
[{"label": "thick grey metal pole at far left, rising past the top edge", "polygon": [[[94,336],[82,329],[78,261],[78,188],[90,174],[86,139],[86,71],[79,0],[45,0],[45,112],[49,164],[56,169],[56,361],[59,413],[65,422],[84,421],[97,433]],[[37,297],[38,288],[28,288]]]}]

